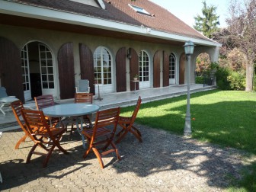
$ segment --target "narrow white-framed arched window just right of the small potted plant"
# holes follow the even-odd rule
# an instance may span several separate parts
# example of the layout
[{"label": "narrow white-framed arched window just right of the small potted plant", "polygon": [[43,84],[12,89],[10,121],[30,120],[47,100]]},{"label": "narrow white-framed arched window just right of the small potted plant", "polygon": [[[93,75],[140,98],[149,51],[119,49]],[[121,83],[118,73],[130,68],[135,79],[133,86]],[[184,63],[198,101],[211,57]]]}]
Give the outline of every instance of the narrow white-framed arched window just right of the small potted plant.
[{"label": "narrow white-framed arched window just right of the small potted plant", "polygon": [[139,82],[149,81],[149,55],[145,51],[139,53]]}]

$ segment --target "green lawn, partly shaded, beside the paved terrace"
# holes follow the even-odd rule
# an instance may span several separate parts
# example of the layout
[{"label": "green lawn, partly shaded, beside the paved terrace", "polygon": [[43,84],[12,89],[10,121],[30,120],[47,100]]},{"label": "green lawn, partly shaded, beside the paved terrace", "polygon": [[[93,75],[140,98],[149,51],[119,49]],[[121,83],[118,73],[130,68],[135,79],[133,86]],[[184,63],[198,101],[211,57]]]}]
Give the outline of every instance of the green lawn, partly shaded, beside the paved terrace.
[{"label": "green lawn, partly shaded, beside the paved terrace", "polygon": [[[131,115],[134,107],[124,107]],[[187,95],[143,104],[136,118],[156,129],[183,135]],[[203,91],[190,95],[192,137],[222,147],[232,147],[256,155],[256,93],[245,91]],[[194,118],[194,120],[192,120]],[[231,191],[256,191],[256,165],[246,171],[242,188]]]}]

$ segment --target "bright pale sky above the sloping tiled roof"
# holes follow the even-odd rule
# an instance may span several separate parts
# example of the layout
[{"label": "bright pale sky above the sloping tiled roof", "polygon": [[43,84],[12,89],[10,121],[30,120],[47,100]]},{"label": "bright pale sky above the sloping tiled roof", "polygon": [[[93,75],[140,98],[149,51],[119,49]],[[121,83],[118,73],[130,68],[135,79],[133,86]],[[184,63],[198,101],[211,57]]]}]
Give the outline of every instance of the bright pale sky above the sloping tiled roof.
[{"label": "bright pale sky above the sloping tiled roof", "polygon": [[[202,14],[203,0],[150,0],[157,5],[166,8],[177,18],[184,21],[186,24],[193,27],[194,17]],[[206,0],[206,5],[214,5],[217,7],[216,14],[219,15],[219,27],[226,27],[226,18],[229,17],[229,1],[230,0]]]}]

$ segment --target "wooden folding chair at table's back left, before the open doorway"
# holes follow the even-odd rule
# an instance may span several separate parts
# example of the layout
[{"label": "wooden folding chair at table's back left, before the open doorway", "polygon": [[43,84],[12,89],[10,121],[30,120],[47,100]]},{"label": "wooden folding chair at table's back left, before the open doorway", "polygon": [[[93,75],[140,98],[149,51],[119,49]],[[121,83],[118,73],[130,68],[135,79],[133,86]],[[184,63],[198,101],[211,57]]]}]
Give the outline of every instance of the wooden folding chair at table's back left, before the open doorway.
[{"label": "wooden folding chair at table's back left, before the open doorway", "polygon": [[[37,110],[42,110],[43,108],[56,104],[52,94],[44,94],[34,97],[34,101],[36,102]],[[59,117],[46,117],[46,120],[48,120],[48,123],[52,126],[56,126],[57,123],[62,123],[61,118]]]}]

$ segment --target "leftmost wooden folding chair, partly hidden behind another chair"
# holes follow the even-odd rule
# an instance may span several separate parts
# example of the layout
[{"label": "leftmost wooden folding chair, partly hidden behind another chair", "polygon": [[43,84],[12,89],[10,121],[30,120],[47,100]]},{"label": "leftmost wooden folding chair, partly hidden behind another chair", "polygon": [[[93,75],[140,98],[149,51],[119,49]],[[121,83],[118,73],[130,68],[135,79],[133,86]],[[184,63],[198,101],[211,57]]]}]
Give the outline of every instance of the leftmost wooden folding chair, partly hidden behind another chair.
[{"label": "leftmost wooden folding chair, partly hidden behind another chair", "polygon": [[15,145],[15,149],[19,149],[19,146],[21,145],[21,142],[25,142],[27,137],[30,137],[32,141],[34,141],[34,137],[30,135],[30,133],[27,130],[27,126],[21,122],[21,110],[24,109],[23,104],[20,100],[14,101],[11,103],[11,109],[14,113],[14,117],[18,121],[18,124],[21,126],[21,129],[24,131],[25,135],[21,137],[21,139],[18,140],[18,142]]}]

